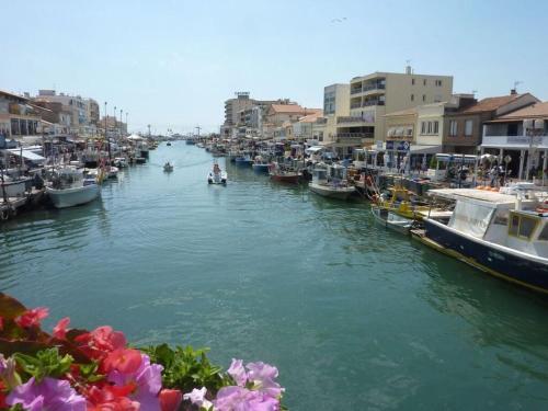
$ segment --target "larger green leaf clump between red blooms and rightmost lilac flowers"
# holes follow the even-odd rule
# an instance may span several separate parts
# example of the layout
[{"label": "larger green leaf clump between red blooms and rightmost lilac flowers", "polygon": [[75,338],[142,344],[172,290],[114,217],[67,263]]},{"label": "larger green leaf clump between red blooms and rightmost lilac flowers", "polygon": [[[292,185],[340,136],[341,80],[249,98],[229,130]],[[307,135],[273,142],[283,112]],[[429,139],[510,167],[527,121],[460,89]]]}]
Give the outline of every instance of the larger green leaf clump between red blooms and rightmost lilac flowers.
[{"label": "larger green leaf clump between red blooms and rightmost lilac flowers", "polygon": [[174,350],[168,344],[141,349],[152,363],[163,366],[164,387],[190,392],[195,387],[206,387],[216,393],[221,387],[233,384],[228,376],[221,375],[221,367],[213,365],[206,356],[208,349],[194,350],[187,345]]}]

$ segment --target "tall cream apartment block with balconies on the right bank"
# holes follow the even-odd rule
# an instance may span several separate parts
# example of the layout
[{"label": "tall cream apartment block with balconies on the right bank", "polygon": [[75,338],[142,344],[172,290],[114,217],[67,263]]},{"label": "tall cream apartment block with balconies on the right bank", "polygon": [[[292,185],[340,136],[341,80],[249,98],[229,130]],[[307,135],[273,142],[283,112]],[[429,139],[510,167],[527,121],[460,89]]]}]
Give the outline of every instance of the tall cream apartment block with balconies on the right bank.
[{"label": "tall cream apartment block with balconies on the right bank", "polygon": [[418,105],[448,101],[453,77],[374,72],[350,82],[350,115],[336,119],[340,145],[358,147],[386,139],[385,115]]}]

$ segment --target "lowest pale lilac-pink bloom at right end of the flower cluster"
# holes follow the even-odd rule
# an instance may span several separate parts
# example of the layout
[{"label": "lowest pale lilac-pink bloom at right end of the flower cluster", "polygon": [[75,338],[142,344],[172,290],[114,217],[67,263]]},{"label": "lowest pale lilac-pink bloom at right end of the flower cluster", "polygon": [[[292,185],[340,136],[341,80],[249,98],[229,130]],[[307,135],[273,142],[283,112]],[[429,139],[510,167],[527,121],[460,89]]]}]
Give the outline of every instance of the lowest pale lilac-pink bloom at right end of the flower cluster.
[{"label": "lowest pale lilac-pink bloom at right end of the flower cluster", "polygon": [[213,401],[215,411],[279,411],[279,401],[242,387],[222,387]]}]

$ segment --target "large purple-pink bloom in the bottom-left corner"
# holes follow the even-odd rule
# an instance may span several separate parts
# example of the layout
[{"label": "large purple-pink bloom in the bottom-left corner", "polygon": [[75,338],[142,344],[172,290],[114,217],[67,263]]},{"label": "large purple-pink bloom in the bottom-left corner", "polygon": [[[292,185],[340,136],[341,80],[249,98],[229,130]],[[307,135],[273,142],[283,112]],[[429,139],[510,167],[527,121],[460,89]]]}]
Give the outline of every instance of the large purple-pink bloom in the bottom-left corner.
[{"label": "large purple-pink bloom in the bottom-left corner", "polygon": [[8,396],[9,406],[21,404],[26,411],[85,411],[85,398],[79,396],[69,381],[46,377],[36,383],[32,377]]}]

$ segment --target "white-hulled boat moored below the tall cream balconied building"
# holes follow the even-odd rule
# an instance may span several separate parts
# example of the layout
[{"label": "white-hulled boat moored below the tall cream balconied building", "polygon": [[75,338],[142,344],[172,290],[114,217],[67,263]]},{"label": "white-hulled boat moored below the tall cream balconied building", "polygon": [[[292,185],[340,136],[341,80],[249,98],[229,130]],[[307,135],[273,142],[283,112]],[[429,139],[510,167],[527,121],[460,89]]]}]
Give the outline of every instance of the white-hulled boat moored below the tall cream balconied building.
[{"label": "white-hulled boat moored below the tall cream balconied building", "polygon": [[329,167],[317,164],[312,171],[312,181],[308,183],[308,187],[312,193],[324,197],[346,199],[356,189],[353,185],[347,185],[345,170],[344,167],[338,164]]}]

